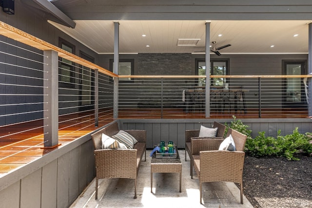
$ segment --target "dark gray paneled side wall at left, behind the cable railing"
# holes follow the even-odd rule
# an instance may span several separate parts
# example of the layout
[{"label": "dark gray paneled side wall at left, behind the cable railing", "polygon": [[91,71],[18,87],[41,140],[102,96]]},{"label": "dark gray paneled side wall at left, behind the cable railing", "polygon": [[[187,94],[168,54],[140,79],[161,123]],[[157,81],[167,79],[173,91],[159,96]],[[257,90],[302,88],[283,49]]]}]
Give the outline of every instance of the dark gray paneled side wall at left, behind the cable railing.
[{"label": "dark gray paneled side wall at left, behind the cable railing", "polygon": [[[2,8],[1,8],[2,10]],[[45,18],[45,15],[40,12],[40,10],[32,8],[28,6],[25,3],[20,3],[20,1],[15,1],[15,15],[6,15],[4,12],[0,12],[0,20],[13,26],[16,27],[30,35],[33,35],[37,38],[40,38],[42,40],[45,40],[53,45],[59,46],[59,38],[62,38],[71,44],[75,45],[75,54],[79,56],[80,51],[84,52],[85,54],[94,57],[95,62],[98,61],[98,54],[95,53],[94,51],[90,50],[88,47],[82,45],[79,43],[77,40],[74,38],[69,37],[68,35],[64,34],[61,32],[59,29],[55,28],[51,24],[47,22],[47,19]],[[20,46],[21,48],[26,48],[31,51],[35,51],[37,53],[41,53],[41,51],[32,48],[31,46],[26,46],[22,43],[19,43],[15,40],[12,40],[10,38],[6,38],[3,36],[0,36],[0,40],[4,42],[8,42],[13,45]],[[34,55],[32,53],[27,53],[24,50],[17,49],[16,47],[13,46],[8,46],[4,43],[0,43],[1,46],[1,51],[4,51],[9,54],[17,55],[17,56],[24,56],[30,59],[35,59],[38,61],[43,60],[43,58],[39,55]],[[8,55],[0,55],[0,60],[3,62],[7,62],[13,65],[22,65],[26,66],[29,68],[35,68],[35,69],[40,69],[43,70],[43,65],[36,63],[36,62],[31,62],[31,61],[26,61],[25,59],[20,59]],[[78,69],[76,69],[78,71]],[[21,75],[21,76],[33,76],[33,77],[43,77],[42,72],[34,71],[34,70],[28,70],[28,69],[21,69],[18,67],[12,67],[8,65],[3,65],[1,64],[0,67],[0,72],[2,73],[8,73],[8,74],[16,74],[16,75]],[[78,74],[75,75],[78,78]],[[34,83],[33,79],[29,78],[23,78],[23,77],[16,77],[16,76],[6,76],[6,77],[1,77],[1,79],[4,79],[2,83],[6,84],[19,84],[19,85],[34,85],[37,84],[38,86],[43,85],[43,81],[41,82],[36,82]],[[78,83],[78,79],[75,80],[76,83]],[[21,87],[14,87],[14,86],[7,86],[5,88],[5,91],[7,94],[22,94],[25,93],[26,88],[21,88]],[[75,89],[78,89],[78,85],[75,85]],[[69,91],[72,95],[78,95],[78,90],[70,90]],[[42,88],[32,88],[30,91],[27,90],[28,94],[38,94],[42,95],[43,90]],[[59,94],[67,94],[68,90],[59,90]],[[68,96],[60,96],[60,100],[66,100],[66,99],[71,99],[71,100],[76,99],[76,102],[67,102],[67,103],[61,103],[59,108],[62,107],[70,107],[70,106],[78,106],[78,96],[75,97],[68,97]],[[21,97],[21,96],[4,96],[0,99],[0,104],[10,104],[10,103],[23,103],[23,102],[42,102],[43,97],[42,96],[34,96],[34,97]],[[6,106],[0,107],[1,114],[14,114],[16,112],[29,112],[29,111],[42,111],[43,106],[42,105],[37,105],[34,109],[31,105],[28,106]],[[77,112],[78,108],[71,109],[72,112]],[[60,111],[60,114],[64,113],[63,111]],[[67,112],[68,113],[68,110]],[[12,123],[18,123],[18,122],[23,122],[27,120],[33,120],[33,119],[40,119],[43,117],[42,112],[38,113],[28,113],[27,116],[26,114],[21,114],[21,115],[11,115],[11,116],[6,116],[5,119],[0,119],[0,125],[6,125],[6,124],[12,124]]]}]

